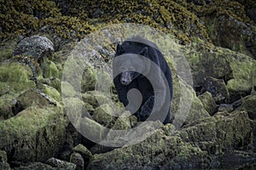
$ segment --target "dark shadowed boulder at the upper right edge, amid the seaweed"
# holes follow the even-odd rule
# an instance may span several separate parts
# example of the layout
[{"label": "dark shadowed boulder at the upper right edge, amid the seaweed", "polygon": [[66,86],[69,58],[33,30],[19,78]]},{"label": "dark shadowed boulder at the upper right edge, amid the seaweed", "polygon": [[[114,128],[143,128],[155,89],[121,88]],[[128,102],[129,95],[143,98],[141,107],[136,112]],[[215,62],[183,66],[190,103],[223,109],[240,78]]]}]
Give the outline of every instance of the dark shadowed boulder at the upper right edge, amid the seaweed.
[{"label": "dark shadowed boulder at the upper right edge, amid the seaweed", "polygon": [[[239,3],[236,5],[238,7]],[[205,21],[214,45],[255,56],[255,26],[247,25],[230,14],[219,14],[214,18],[207,17]]]}]

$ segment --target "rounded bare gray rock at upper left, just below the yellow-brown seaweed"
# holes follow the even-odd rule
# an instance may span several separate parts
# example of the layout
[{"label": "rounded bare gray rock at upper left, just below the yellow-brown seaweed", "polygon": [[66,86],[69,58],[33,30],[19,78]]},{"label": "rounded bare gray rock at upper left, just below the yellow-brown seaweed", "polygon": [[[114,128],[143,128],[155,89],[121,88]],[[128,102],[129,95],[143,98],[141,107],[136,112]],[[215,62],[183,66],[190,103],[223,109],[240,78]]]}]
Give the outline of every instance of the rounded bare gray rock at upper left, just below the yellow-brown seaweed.
[{"label": "rounded bare gray rock at upper left, just below the yellow-brown seaweed", "polygon": [[54,44],[47,37],[32,36],[21,40],[15,48],[14,55],[34,57],[40,62],[54,52]]}]

